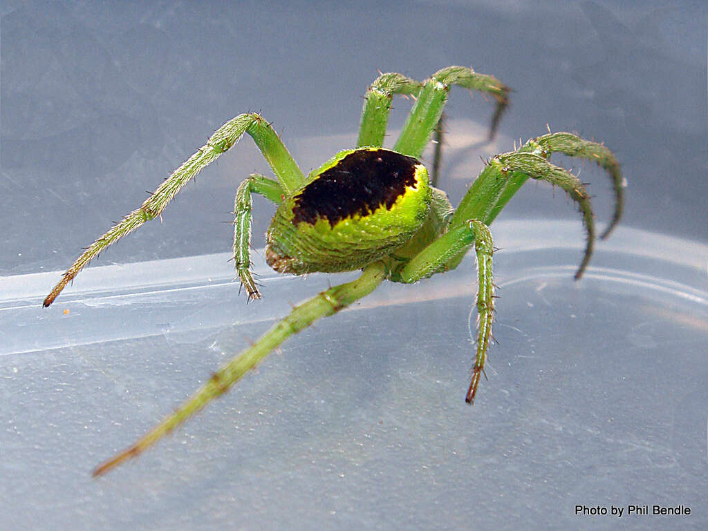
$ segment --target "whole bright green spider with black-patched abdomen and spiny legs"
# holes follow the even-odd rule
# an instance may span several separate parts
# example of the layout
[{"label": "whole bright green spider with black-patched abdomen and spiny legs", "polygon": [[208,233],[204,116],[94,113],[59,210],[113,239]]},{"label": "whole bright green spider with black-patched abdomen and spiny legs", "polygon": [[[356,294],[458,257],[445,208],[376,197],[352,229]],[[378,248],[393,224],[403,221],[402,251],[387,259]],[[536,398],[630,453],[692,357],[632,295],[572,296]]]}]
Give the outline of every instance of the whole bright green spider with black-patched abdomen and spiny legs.
[{"label": "whole bright green spider with black-patched abdomen and spiny legs", "polygon": [[[177,192],[206,165],[249,134],[278,180],[251,175],[239,186],[234,205],[234,260],[249,300],[261,298],[249,267],[251,194],[261,194],[278,205],[266,234],[265,259],[280,273],[347,272],[362,269],[354,281],[334,286],[292,309],[249,349],[225,363],[175,412],[135,444],[93,470],[98,476],[142,453],[173,431],[207,402],[223,395],[288,337],[320,317],[371,293],[384,280],[412,284],[454,269],[474,245],[478,274],[476,307],[478,337],[476,361],[466,401],[472,404],[492,339],[494,311],[493,245],[489,224],[528,178],[564,189],[578,203],[587,231],[585,256],[576,273],[580,278],[593,251],[595,228],[590,200],[583,184],[567,170],[549,163],[552,153],[595,161],[612,177],[615,214],[602,238],[622,215],[622,177],[610,150],[571,133],[549,133],[515,151],[488,161],[460,202],[452,208],[447,195],[435,188],[442,140],[441,117],[450,86],[481,91],[496,100],[490,138],[508,103],[509,89],[493,76],[450,66],[422,83],[401,74],[382,74],[365,96],[357,146],[340,151],[305,176],[270,124],[258,114],[236,116],[188,161],[183,163],[145,200],[76,259],[44,301],[49,306],[69,281],[99,252],[160,216]],[[393,149],[382,148],[394,95],[416,98]],[[436,134],[432,180],[418,161]]]}]

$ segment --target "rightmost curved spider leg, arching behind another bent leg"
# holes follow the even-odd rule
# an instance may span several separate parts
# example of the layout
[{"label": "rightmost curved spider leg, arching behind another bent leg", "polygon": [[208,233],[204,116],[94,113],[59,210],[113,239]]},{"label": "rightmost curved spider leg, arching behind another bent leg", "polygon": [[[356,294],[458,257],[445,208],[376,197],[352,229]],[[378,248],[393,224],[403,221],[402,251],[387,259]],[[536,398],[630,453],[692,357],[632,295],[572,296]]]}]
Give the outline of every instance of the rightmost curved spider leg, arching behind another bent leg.
[{"label": "rightmost curved spider leg, arching behind another bent leg", "polygon": [[545,158],[549,158],[552,153],[564,153],[571,157],[585,158],[588,161],[594,161],[602,168],[605,168],[610,175],[610,179],[612,179],[612,187],[615,189],[615,213],[612,214],[612,221],[610,221],[610,224],[602,235],[600,235],[600,238],[604,240],[610,235],[612,230],[617,226],[617,223],[619,223],[619,219],[622,218],[622,210],[624,208],[622,172],[619,169],[617,158],[615,158],[612,151],[603,146],[603,144],[583,140],[576,134],[566,132],[549,133],[538,136],[535,139],[529,140],[519,148],[519,151],[536,153]]}]

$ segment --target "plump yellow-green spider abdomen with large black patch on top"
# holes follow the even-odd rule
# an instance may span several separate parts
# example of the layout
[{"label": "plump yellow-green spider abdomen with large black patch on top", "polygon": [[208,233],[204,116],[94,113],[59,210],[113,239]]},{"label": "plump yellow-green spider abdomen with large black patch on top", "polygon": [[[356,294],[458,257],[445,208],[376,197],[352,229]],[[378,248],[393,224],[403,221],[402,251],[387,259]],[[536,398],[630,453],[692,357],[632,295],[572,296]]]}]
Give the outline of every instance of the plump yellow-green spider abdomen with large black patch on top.
[{"label": "plump yellow-green spider abdomen with large black patch on top", "polygon": [[360,269],[400,247],[428,216],[428,172],[382,148],[341,151],[287,197],[266,236],[278,272]]}]

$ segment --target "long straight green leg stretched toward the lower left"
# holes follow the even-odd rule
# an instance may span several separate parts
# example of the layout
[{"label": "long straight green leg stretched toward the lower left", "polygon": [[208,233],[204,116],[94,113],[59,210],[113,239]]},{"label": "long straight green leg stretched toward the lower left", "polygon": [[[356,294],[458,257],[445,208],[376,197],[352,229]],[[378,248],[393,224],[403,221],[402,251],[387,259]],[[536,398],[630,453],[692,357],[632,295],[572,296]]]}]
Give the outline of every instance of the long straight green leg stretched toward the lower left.
[{"label": "long straight green leg stretched toward the lower left", "polygon": [[224,363],[207,382],[200,387],[190,398],[188,398],[175,412],[166,416],[160,424],[152,428],[135,444],[126,448],[114,457],[106,460],[93,470],[93,476],[105,474],[108,470],[119,465],[131,457],[136,457],[144,450],[156,443],[157,440],[166,436],[177,426],[183,424],[190,416],[212,399],[223,395],[229,387],[238,382],[249,370],[254,368],[273,349],[285,341],[293,334],[309,327],[320,317],[333,315],[356,300],[367,296],[381,284],[385,278],[385,267],[382,262],[374,262],[364,268],[361,276],[354,281],[347,282],[322,291],[319,295],[297,305],[292,309],[290,315],[273,325],[268,332],[265,332],[261,339],[253,344],[249,349],[234,356],[230,361]]}]

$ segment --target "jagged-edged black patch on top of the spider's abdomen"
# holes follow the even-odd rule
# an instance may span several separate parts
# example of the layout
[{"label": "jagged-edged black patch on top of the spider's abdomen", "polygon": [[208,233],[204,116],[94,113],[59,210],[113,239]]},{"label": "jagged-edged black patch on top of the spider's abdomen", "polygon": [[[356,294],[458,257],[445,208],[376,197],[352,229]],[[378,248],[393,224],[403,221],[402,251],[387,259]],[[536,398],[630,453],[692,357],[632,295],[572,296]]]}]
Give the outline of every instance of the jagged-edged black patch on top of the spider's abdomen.
[{"label": "jagged-edged black patch on top of the spider's abdomen", "polygon": [[302,189],[295,197],[292,223],[314,225],[326,218],[333,227],[344,218],[387,209],[416,187],[418,161],[387,149],[358,149]]}]

